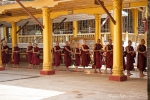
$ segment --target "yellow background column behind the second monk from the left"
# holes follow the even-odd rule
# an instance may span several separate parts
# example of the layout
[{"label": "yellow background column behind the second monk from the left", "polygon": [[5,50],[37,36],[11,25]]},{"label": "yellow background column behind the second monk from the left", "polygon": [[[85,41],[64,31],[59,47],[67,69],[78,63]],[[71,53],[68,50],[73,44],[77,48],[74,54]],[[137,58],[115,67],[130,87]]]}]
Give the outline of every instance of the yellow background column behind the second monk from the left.
[{"label": "yellow background column behind the second monk from the left", "polygon": [[17,26],[16,22],[12,22],[12,29],[11,29],[11,37],[12,37],[12,61],[13,61],[13,51],[14,51],[14,46],[17,43]]}]

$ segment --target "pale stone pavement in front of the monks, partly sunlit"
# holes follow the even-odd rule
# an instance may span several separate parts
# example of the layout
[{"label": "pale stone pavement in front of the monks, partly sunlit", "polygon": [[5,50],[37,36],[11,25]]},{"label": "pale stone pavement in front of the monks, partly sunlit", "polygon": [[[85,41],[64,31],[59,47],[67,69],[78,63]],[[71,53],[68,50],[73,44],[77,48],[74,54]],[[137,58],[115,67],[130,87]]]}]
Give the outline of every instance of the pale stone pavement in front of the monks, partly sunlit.
[{"label": "pale stone pavement in front of the monks, partly sunlit", "polygon": [[44,76],[25,66],[0,71],[0,100],[147,100],[147,77],[139,78],[137,71],[128,81],[115,82],[90,68],[89,74],[56,71]]}]

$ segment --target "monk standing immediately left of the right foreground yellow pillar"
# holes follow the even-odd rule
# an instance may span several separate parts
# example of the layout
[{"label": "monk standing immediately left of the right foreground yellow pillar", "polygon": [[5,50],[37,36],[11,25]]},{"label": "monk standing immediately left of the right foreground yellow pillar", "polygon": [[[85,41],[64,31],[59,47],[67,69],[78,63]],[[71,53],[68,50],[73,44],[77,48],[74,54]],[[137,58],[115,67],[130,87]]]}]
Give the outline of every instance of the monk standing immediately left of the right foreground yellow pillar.
[{"label": "monk standing immediately left of the right foreground yellow pillar", "polygon": [[112,74],[113,67],[113,45],[112,40],[108,40],[109,44],[106,45],[106,69],[104,73],[107,73],[107,68],[110,68],[110,74]]}]

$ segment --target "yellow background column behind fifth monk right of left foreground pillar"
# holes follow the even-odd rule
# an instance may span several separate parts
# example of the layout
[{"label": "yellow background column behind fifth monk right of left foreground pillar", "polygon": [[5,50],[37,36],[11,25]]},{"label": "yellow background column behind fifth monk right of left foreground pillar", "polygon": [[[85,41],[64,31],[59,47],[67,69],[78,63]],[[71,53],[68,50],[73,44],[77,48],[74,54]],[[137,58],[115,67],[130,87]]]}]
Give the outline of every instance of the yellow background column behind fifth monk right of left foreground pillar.
[{"label": "yellow background column behind fifth monk right of left foreground pillar", "polygon": [[95,15],[95,42],[97,39],[101,39],[101,15],[99,14]]}]

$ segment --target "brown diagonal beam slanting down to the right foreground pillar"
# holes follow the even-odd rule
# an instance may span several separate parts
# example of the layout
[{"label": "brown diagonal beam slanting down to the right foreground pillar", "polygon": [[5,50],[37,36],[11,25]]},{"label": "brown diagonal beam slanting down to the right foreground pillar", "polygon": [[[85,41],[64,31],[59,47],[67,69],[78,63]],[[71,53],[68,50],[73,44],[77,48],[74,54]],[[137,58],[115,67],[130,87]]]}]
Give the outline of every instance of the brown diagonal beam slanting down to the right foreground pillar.
[{"label": "brown diagonal beam slanting down to the right foreground pillar", "polygon": [[111,14],[109,13],[109,11],[106,9],[106,7],[104,6],[104,2],[100,1],[100,0],[95,0],[95,4],[97,5],[101,5],[101,7],[103,8],[103,10],[106,12],[106,14],[109,16],[109,18],[111,19],[111,21],[114,23],[114,25],[116,24],[116,21],[114,20],[114,18],[111,16]]}]

